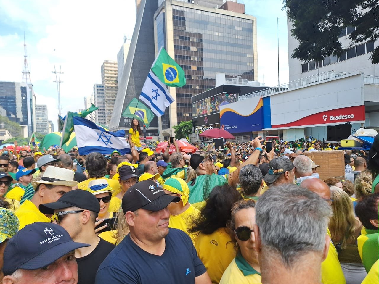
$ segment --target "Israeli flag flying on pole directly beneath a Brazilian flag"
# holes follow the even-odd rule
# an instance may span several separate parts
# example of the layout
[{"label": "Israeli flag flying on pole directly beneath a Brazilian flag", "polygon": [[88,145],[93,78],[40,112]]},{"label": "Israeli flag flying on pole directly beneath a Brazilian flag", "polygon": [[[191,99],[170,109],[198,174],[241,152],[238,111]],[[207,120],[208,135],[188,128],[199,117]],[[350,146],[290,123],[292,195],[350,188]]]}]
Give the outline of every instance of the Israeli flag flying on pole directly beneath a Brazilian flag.
[{"label": "Israeli flag flying on pole directly beneath a Brazilian flag", "polygon": [[147,75],[139,99],[146,103],[157,116],[162,116],[165,109],[175,101],[166,86],[151,70]]}]

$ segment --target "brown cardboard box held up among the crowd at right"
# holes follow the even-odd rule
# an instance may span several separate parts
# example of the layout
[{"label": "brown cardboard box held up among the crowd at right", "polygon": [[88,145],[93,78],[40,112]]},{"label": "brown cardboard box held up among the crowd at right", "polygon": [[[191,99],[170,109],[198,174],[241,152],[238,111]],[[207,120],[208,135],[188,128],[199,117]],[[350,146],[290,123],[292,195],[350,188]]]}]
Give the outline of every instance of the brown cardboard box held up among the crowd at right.
[{"label": "brown cardboard box held up among the crowd at right", "polygon": [[345,179],[345,158],[342,150],[307,151],[304,155],[309,157],[316,165],[321,166],[317,168],[317,173],[321,179]]}]

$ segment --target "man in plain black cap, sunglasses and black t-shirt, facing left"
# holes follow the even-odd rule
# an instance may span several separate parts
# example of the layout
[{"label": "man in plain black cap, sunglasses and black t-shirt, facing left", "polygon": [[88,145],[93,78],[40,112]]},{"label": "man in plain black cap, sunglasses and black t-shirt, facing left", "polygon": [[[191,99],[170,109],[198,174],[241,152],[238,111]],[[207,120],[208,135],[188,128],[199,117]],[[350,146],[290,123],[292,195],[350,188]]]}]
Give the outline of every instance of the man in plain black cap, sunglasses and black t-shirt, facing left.
[{"label": "man in plain black cap, sunglasses and black t-shirt, facing left", "polygon": [[96,271],[105,257],[115,247],[95,234],[95,221],[100,212],[99,200],[86,190],[72,190],[56,202],[39,205],[43,214],[54,214],[58,223],[75,242],[84,242],[90,247],[75,250],[78,262],[78,283],[93,284]]}]

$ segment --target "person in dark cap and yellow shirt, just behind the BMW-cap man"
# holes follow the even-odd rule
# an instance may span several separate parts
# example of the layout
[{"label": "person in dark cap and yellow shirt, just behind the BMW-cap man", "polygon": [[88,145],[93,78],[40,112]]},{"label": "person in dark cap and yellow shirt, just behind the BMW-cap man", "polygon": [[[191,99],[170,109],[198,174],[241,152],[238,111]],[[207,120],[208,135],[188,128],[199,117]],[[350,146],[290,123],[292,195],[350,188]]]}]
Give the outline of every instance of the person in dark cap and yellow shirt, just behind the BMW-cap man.
[{"label": "person in dark cap and yellow shirt, just behind the BMW-cap man", "polygon": [[121,200],[125,192],[138,181],[138,170],[132,165],[122,165],[117,170],[121,191],[116,196],[111,198],[109,204],[109,212],[118,212],[121,207]]}]

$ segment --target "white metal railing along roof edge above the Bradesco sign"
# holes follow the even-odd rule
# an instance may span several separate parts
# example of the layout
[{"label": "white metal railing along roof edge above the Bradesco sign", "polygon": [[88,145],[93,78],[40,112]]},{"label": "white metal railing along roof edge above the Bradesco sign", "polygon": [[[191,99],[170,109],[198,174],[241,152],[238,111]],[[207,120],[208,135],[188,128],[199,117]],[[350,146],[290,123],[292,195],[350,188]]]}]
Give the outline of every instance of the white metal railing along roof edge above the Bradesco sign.
[{"label": "white metal railing along roof edge above the Bradesco sign", "polygon": [[305,77],[305,78],[302,78],[302,79],[299,79],[296,81],[292,81],[292,82],[287,83],[287,84],[282,84],[282,85],[279,85],[277,87],[263,89],[263,90],[252,92],[252,93],[246,94],[246,95],[240,95],[239,100],[247,100],[248,98],[260,97],[260,96],[264,97],[266,95],[271,95],[271,94],[275,94],[275,93],[279,93],[279,92],[283,92],[283,91],[289,91],[291,89],[296,89],[298,87],[307,86],[309,84],[339,78],[339,77],[345,76],[347,74],[349,74],[349,73],[333,72],[333,71],[323,72],[323,73],[319,73],[319,74],[316,74],[313,76]]}]

